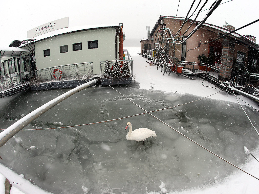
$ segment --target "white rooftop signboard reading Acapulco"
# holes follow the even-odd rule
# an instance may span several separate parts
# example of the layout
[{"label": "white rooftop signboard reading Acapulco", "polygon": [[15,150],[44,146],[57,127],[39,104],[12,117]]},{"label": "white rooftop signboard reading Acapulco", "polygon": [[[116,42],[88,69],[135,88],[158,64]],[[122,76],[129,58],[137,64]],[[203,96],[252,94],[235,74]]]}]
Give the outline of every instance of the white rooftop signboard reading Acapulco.
[{"label": "white rooftop signboard reading Acapulco", "polygon": [[68,27],[68,17],[61,18],[33,28],[27,32],[27,38],[34,38],[41,34]]}]

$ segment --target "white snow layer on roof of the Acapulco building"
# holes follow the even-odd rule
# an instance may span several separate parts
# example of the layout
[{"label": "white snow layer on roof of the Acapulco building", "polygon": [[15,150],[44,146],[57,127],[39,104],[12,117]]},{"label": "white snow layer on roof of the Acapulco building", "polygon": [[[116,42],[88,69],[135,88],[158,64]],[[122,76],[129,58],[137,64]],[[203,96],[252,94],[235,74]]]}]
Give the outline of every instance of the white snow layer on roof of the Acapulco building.
[{"label": "white snow layer on roof of the Acapulco building", "polygon": [[66,33],[73,33],[73,32],[78,32],[78,31],[84,31],[84,30],[91,30],[91,29],[102,29],[102,28],[116,28],[119,27],[119,25],[87,25],[87,26],[74,26],[74,27],[66,27],[66,28],[61,28],[52,32],[48,32],[45,34],[41,34],[39,36],[34,37],[33,42],[40,41],[42,39],[50,38],[52,36],[60,35],[60,34],[66,34]]}]

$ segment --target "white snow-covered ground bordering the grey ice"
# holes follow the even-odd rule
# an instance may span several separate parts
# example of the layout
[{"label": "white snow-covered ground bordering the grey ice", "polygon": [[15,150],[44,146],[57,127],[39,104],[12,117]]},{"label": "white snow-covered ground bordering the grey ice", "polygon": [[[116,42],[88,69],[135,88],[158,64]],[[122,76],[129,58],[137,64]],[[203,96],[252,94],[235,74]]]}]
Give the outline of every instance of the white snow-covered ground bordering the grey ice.
[{"label": "white snow-covered ground bordering the grey ice", "polygon": [[[209,96],[211,94],[214,94],[219,91],[217,90],[212,84],[207,83],[206,81],[203,82],[203,85],[210,86],[205,87],[202,85],[202,79],[197,78],[196,80],[191,80],[189,78],[185,78],[182,76],[177,76],[174,73],[171,73],[170,76],[168,74],[165,74],[163,76],[162,73],[160,73],[160,70],[156,70],[156,68],[153,66],[149,66],[149,63],[147,63],[147,58],[142,58],[140,53],[140,47],[128,47],[129,53],[131,54],[134,62],[133,62],[133,74],[136,77],[136,82],[139,83],[139,87],[141,89],[154,89],[154,90],[161,90],[166,93],[178,93],[178,94],[193,94],[197,96]],[[212,88],[214,87],[214,88]],[[218,99],[218,100],[225,100],[226,104],[227,101],[235,102],[236,98],[234,95],[229,95],[226,92],[222,91],[217,94],[214,94],[210,96],[209,98]],[[249,105],[253,106],[254,108],[258,109],[258,105],[241,95],[239,95],[239,98],[246,101]],[[243,101],[240,100],[241,104],[244,104]],[[246,119],[244,115],[244,119]],[[259,156],[259,149],[253,150],[253,155],[255,157]],[[251,157],[251,159],[241,168],[246,170],[248,173],[259,177],[259,169],[258,169],[259,163]],[[25,180],[22,175],[17,175],[10,169],[6,168],[2,164],[0,164],[0,173],[4,175],[9,181],[10,184],[12,184],[14,187],[11,190],[11,194],[13,193],[19,193],[18,189],[23,191],[24,193],[48,193],[41,189],[39,189],[37,186],[30,183],[30,181]],[[0,177],[1,178],[1,177]],[[3,189],[2,184],[2,178],[1,178],[1,187],[0,191]],[[189,194],[189,193],[258,193],[258,186],[259,186],[259,180],[257,180],[254,177],[251,177],[247,175],[246,173],[236,169],[235,172],[232,175],[229,175],[224,180],[220,180],[217,183],[213,184],[212,186],[208,187],[199,187],[199,188],[193,188],[191,190],[184,190],[181,192],[174,192],[174,191],[168,191],[163,183],[160,185],[160,191],[157,193],[181,193],[181,194]],[[85,193],[88,191],[86,190]],[[22,192],[20,192],[22,193]],[[155,192],[149,192],[150,194],[154,194]]]}]

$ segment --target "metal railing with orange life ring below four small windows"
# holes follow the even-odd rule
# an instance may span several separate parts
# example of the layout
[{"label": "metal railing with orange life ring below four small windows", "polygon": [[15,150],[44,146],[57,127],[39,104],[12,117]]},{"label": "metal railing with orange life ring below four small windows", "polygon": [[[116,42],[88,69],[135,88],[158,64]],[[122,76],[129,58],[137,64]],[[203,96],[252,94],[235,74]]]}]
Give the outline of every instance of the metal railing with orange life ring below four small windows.
[{"label": "metal railing with orange life ring below four small windows", "polygon": [[60,65],[31,71],[30,77],[33,84],[49,80],[88,79],[93,77],[93,65],[92,62]]}]

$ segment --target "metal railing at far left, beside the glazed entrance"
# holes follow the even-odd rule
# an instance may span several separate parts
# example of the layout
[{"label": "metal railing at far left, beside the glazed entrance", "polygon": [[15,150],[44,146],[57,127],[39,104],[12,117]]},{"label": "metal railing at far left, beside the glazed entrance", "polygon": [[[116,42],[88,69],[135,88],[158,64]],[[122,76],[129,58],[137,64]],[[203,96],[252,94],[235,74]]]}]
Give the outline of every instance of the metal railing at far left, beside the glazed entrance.
[{"label": "metal railing at far left, beside the glazed entrance", "polygon": [[24,73],[12,73],[6,76],[0,77],[0,89],[4,93],[11,89],[16,89],[19,86],[23,87],[29,82],[29,78]]}]

